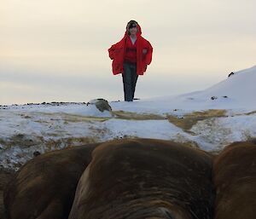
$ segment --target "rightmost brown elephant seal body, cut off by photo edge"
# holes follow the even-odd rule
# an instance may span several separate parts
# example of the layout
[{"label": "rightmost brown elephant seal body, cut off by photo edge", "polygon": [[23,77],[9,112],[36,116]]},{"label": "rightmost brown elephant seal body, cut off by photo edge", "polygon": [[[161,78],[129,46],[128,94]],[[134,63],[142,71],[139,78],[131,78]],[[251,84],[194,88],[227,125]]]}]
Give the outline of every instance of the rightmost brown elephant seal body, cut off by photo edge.
[{"label": "rightmost brown elephant seal body, cut off by photo edge", "polygon": [[256,141],[226,147],[213,164],[215,219],[256,218]]}]

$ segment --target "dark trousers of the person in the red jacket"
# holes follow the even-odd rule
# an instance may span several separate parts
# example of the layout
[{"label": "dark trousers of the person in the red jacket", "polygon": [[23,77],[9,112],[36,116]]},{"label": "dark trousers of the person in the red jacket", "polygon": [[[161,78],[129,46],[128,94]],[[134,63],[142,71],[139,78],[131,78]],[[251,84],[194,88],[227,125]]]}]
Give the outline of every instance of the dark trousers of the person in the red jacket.
[{"label": "dark trousers of the person in the red jacket", "polygon": [[125,101],[133,101],[135,87],[137,83],[137,64],[124,62],[124,72],[122,73]]}]

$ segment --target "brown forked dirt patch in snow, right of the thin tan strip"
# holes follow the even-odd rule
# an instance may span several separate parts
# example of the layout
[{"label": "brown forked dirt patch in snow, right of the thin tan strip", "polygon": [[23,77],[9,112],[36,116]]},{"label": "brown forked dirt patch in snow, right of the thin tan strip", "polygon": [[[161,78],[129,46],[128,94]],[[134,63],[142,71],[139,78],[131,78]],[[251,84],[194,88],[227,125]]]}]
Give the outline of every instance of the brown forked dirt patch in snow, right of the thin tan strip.
[{"label": "brown forked dirt patch in snow, right of the thin tan strip", "polygon": [[198,121],[201,121],[207,118],[219,118],[219,117],[226,117],[226,111],[210,109],[210,110],[201,111],[201,112],[191,112],[180,118],[174,115],[167,115],[167,118],[170,123],[175,124],[177,127],[183,129],[186,132],[189,132],[189,134],[193,134],[189,130]]}]

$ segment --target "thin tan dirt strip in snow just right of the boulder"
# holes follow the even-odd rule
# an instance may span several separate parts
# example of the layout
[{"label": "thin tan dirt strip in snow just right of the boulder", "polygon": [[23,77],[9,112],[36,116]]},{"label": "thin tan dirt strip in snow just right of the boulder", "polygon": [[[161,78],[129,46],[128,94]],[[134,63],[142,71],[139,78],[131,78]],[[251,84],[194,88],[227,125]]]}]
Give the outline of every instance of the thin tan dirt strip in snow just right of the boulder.
[{"label": "thin tan dirt strip in snow just right of the boulder", "polygon": [[113,115],[116,118],[122,119],[134,119],[134,120],[163,120],[166,119],[164,116],[156,115],[153,113],[137,113],[137,112],[125,112],[125,111],[113,111]]}]

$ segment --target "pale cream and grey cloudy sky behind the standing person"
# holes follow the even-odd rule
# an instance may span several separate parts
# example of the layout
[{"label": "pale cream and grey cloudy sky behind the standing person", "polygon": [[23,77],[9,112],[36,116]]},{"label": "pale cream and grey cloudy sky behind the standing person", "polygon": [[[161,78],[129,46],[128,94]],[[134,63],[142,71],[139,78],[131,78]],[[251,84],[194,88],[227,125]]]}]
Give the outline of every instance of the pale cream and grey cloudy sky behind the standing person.
[{"label": "pale cream and grey cloudy sky behind the standing person", "polygon": [[135,97],[206,89],[256,65],[256,1],[0,0],[0,104],[123,101],[108,48],[137,20],[154,48]]}]

